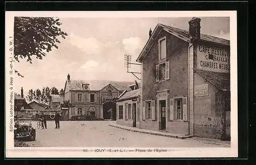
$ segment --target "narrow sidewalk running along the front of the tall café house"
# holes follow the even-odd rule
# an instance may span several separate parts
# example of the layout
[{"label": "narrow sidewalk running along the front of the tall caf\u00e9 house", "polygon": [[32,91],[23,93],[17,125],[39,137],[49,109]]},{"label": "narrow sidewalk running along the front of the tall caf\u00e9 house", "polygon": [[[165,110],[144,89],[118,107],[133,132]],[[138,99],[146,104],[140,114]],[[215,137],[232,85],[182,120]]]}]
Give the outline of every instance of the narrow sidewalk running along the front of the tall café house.
[{"label": "narrow sidewalk running along the front of the tall caf\u00e9 house", "polygon": [[192,135],[183,135],[183,134],[170,133],[170,132],[145,130],[145,129],[140,129],[140,128],[136,128],[136,127],[127,127],[127,126],[122,126],[122,125],[117,125],[117,124],[110,124],[109,126],[127,130],[127,131],[140,132],[140,133],[152,134],[152,135],[157,135],[157,136],[180,138],[180,139],[186,139],[186,140],[193,140],[193,141],[197,141],[199,143],[222,145],[225,147],[230,147],[230,141],[222,141],[219,139],[193,137]]}]

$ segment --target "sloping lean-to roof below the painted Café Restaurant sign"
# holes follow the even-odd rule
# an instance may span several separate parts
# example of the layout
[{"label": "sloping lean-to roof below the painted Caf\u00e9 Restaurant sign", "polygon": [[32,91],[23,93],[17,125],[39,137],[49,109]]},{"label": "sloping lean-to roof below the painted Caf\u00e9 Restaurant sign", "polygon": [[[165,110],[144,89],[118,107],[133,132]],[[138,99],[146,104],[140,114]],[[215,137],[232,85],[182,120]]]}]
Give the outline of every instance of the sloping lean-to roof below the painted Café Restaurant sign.
[{"label": "sloping lean-to roof below the painted Caf\u00e9 Restaurant sign", "polygon": [[220,90],[230,91],[230,74],[195,69],[195,71]]}]

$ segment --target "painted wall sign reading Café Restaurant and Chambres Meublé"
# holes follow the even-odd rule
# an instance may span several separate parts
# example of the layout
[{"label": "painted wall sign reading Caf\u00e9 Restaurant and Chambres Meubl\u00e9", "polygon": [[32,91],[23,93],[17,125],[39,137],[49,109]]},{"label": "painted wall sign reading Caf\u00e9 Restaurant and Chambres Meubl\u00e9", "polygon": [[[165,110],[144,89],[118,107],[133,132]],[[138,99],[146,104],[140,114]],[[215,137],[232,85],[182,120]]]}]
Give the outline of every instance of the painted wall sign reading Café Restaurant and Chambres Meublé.
[{"label": "painted wall sign reading Caf\u00e9 Restaurant and Chambres Meubl\u00e9", "polygon": [[198,69],[212,72],[230,72],[230,51],[215,47],[197,46],[197,67]]}]

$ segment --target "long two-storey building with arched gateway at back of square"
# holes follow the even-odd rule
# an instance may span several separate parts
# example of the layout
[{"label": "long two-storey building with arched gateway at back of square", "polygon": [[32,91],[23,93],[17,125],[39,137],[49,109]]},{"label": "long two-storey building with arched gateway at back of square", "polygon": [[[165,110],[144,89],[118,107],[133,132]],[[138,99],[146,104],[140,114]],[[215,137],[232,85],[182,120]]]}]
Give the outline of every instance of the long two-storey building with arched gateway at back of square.
[{"label": "long two-storey building with arched gateway at back of square", "polygon": [[133,82],[71,80],[68,75],[63,99],[69,102],[69,119],[72,115],[90,112],[96,115],[96,120],[116,120],[115,101],[124,90],[130,90],[131,84]]}]

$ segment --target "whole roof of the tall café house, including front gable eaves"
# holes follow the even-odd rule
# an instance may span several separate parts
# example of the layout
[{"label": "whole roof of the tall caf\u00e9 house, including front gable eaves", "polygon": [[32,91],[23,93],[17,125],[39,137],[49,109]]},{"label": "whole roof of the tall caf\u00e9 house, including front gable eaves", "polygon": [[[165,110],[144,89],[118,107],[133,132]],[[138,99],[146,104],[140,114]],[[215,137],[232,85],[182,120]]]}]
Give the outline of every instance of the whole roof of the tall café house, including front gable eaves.
[{"label": "whole roof of the tall caf\u00e9 house, including front gable eaves", "polygon": [[[155,42],[155,38],[158,36],[158,34],[161,32],[161,30],[165,30],[166,32],[175,35],[176,37],[184,40],[185,42],[190,42],[191,41],[191,36],[189,35],[189,31],[185,29],[180,29],[176,27],[171,27],[167,25],[163,25],[161,23],[158,23],[156,28],[154,29],[151,37],[147,40],[146,44],[144,45],[143,50],[141,51],[139,57],[137,58],[137,62],[141,62],[144,57],[146,56],[147,52],[151,49],[151,46]],[[200,39],[201,41],[207,41],[207,42],[212,42],[212,43],[217,43],[217,44],[223,44],[223,45],[230,45],[230,41],[227,39],[207,35],[207,34],[200,34]]]}]

